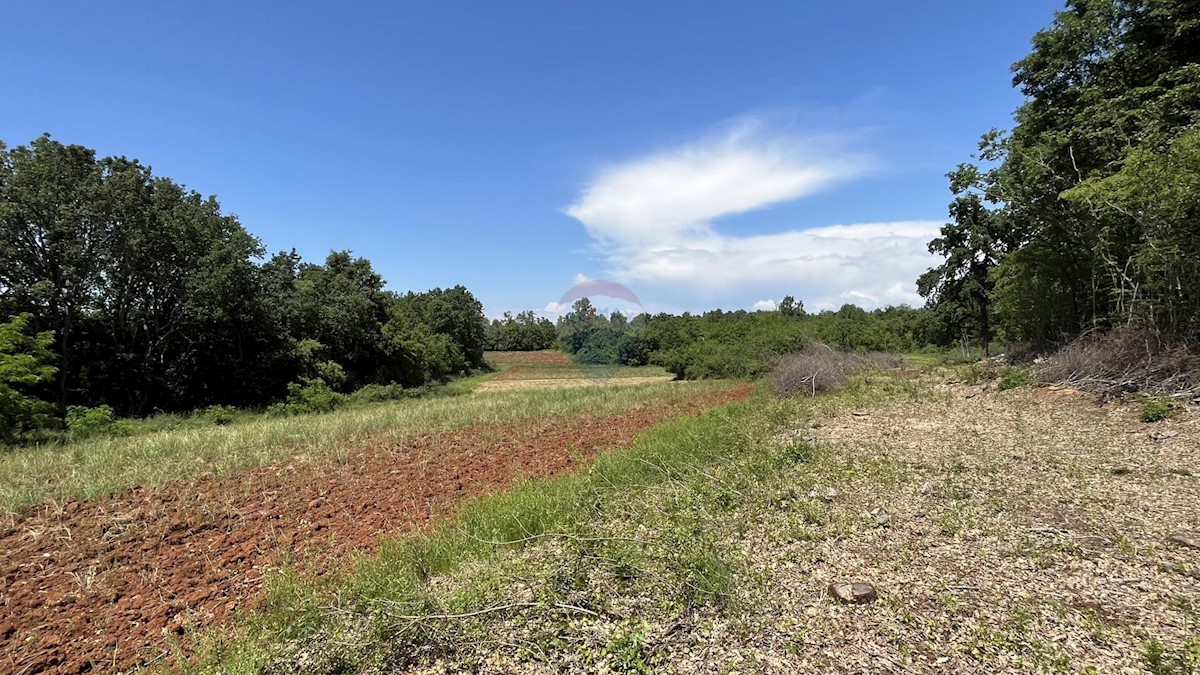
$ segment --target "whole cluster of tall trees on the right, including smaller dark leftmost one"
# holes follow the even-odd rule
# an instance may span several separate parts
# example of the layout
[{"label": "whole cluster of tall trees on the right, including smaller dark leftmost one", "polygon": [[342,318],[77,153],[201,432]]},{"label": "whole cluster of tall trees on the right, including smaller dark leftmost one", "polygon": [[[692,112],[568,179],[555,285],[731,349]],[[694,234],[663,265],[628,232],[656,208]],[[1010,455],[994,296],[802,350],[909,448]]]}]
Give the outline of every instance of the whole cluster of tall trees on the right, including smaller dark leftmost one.
[{"label": "whole cluster of tall trees on the right, including smaller dark leftmost one", "polygon": [[1014,127],[948,174],[922,295],[985,352],[1124,328],[1196,344],[1200,2],[1069,0],[1013,73]]}]

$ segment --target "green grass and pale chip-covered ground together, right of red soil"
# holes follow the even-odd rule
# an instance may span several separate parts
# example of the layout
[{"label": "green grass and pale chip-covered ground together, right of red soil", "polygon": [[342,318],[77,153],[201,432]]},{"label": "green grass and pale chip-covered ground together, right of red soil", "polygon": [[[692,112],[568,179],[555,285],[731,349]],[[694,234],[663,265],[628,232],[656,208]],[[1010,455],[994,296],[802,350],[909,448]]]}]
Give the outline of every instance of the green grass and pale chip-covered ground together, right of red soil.
[{"label": "green grass and pale chip-covered ground together, right of red soil", "polygon": [[200,670],[1195,673],[1196,419],[912,372],[754,398],[289,579]]}]

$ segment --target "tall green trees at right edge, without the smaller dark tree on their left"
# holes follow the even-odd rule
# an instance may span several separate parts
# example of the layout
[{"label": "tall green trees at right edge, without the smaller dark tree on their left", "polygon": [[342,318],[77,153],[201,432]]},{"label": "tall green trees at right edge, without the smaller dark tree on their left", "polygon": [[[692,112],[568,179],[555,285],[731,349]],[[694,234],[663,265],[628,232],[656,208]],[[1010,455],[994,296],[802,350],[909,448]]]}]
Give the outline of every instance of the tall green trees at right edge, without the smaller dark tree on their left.
[{"label": "tall green trees at right edge, without the smaller dark tree on their left", "polygon": [[[1014,65],[1026,101],[996,187],[1019,244],[995,289],[1014,335],[1057,340],[1135,322],[1192,330],[1193,305],[1175,295],[1195,282],[1172,285],[1183,268],[1162,258],[1187,250],[1187,228],[1168,227],[1166,210],[1129,207],[1154,195],[1139,174],[1177,184],[1187,155],[1177,139],[1200,125],[1196,16],[1195,0],[1070,0]],[[1187,199],[1171,199],[1177,217]]]}]

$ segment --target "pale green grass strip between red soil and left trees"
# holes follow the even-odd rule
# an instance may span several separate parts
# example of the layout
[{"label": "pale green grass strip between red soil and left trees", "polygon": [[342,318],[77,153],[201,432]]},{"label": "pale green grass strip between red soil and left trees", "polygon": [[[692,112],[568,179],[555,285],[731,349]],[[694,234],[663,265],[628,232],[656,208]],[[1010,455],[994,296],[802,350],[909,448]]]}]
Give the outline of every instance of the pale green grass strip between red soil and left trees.
[{"label": "pale green grass strip between red soil and left trees", "polygon": [[418,399],[299,417],[256,417],[227,426],[100,438],[0,454],[0,512],[94,498],[134,485],[277,461],[336,461],[364,443],[395,443],[475,424],[546,416],[611,414],[656,400],[690,396],[731,383],[509,390]]}]

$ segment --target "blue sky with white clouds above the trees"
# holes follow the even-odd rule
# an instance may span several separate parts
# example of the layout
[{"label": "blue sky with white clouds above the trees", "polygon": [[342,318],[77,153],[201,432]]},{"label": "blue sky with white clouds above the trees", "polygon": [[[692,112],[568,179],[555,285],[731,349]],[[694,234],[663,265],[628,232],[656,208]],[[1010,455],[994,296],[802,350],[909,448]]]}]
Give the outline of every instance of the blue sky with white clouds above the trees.
[{"label": "blue sky with white clouds above the trees", "polygon": [[[919,301],[944,174],[1061,2],[11,2],[0,139],[138,157],[488,315]],[[551,312],[552,313],[552,312]]]}]

